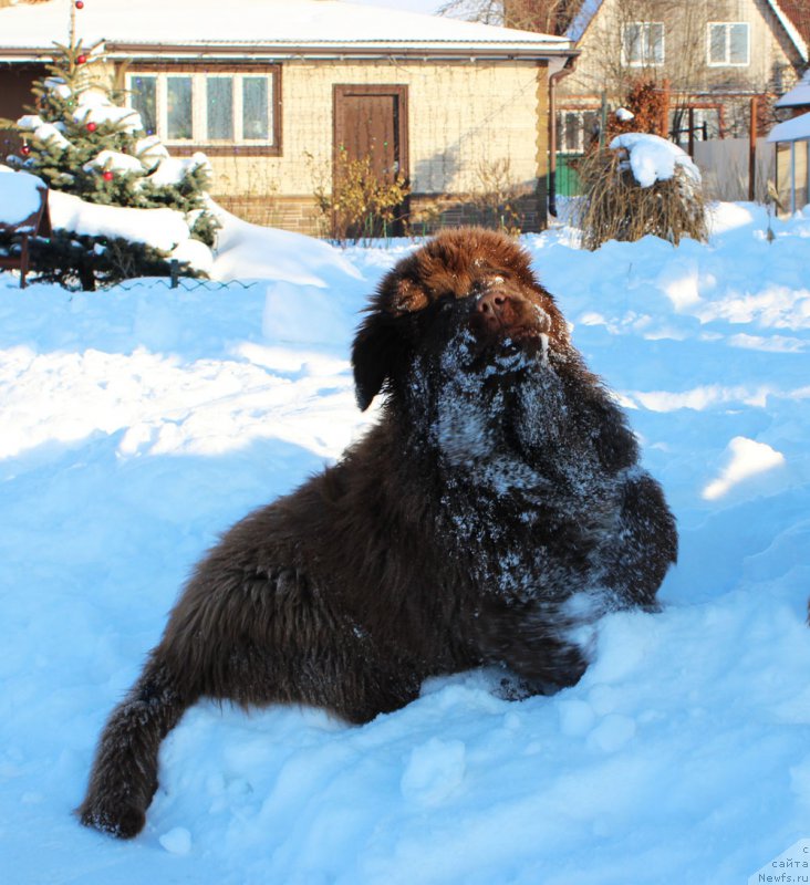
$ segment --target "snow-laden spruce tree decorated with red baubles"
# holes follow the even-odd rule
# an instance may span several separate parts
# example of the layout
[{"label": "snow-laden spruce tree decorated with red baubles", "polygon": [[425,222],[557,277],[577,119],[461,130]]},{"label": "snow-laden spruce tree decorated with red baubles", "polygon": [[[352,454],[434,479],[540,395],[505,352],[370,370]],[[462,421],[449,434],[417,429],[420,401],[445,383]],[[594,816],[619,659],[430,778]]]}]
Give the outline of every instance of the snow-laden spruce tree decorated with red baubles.
[{"label": "snow-laden spruce tree decorated with red baubles", "polygon": [[[48,74],[33,86],[34,103],[17,121],[23,145],[10,166],[41,178],[52,190],[87,204],[128,209],[174,209],[191,239],[214,243],[217,222],[207,208],[210,167],[204,154],[173,158],[155,135],[144,132],[126,95],[108,84],[100,44],[76,38],[75,0],[70,40],[54,43]],[[127,277],[168,272],[170,254],[121,236],[58,231],[34,250],[43,279],[84,289]],[[188,264],[181,272],[194,273]]]}]

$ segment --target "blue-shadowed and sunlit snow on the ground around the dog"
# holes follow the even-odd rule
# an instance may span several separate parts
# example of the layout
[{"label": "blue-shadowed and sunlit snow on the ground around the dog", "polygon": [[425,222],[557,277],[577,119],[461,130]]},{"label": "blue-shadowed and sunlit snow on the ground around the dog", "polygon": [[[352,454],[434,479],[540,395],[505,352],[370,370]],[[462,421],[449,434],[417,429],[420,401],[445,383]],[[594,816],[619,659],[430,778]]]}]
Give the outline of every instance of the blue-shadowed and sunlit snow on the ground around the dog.
[{"label": "blue-shadowed and sunlit snow on the ground around the dog", "polygon": [[362,728],[202,704],[132,843],[71,815],[102,723],[217,533],[373,420],[349,342],[412,244],[230,223],[215,273],[248,288],[0,275],[2,882],[731,885],[809,836],[810,212],[765,230],[525,238],[677,513],[661,614],[606,618],[554,697],[472,673]]}]

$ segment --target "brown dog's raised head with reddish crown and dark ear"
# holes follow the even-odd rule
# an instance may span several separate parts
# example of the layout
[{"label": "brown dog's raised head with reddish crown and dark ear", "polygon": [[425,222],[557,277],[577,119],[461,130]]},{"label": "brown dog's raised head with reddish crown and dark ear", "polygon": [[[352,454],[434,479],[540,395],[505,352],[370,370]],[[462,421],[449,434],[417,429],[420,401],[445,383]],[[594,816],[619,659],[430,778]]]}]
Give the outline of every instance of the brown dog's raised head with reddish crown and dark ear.
[{"label": "brown dog's raised head with reddish crown and dark ear", "polygon": [[360,407],[407,383],[415,362],[440,356],[459,340],[479,368],[498,365],[499,356],[546,358],[549,346],[568,345],[552,296],[528,253],[506,235],[444,231],[383,278],[352,351]]}]

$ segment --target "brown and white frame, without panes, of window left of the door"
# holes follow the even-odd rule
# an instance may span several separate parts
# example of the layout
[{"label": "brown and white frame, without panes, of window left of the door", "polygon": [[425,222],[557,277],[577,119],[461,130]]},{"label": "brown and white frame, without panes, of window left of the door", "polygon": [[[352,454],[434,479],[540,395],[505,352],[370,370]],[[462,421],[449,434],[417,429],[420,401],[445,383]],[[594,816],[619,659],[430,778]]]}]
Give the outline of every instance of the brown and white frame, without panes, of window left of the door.
[{"label": "brown and white frame, without panes, of window left of the door", "polygon": [[[206,64],[148,64],[141,62],[126,69],[126,87],[133,91],[133,80],[138,76],[157,79],[156,135],[176,156],[188,156],[201,150],[209,156],[281,156],[281,65],[233,64],[232,62]],[[167,135],[166,83],[172,76],[191,77],[193,137],[170,139]],[[268,77],[268,135],[269,140],[245,138],[243,82],[245,79]],[[207,138],[207,82],[208,79],[232,79],[233,137],[231,139]]]}]

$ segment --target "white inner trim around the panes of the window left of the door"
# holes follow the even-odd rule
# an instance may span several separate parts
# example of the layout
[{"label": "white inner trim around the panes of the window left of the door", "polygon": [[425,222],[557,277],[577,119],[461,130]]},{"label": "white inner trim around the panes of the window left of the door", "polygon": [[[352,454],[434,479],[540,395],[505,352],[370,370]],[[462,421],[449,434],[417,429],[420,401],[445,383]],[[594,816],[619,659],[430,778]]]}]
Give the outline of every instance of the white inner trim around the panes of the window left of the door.
[{"label": "white inner trim around the panes of the window left of the door", "polygon": [[[249,147],[276,147],[274,143],[274,112],[273,96],[274,86],[273,72],[259,73],[256,71],[239,72],[239,71],[136,71],[127,74],[127,88],[134,91],[133,81],[142,76],[154,76],[157,80],[156,90],[156,116],[157,116],[157,136],[167,147],[227,147],[229,145],[245,145]],[[167,82],[169,77],[189,77],[191,80],[191,137],[190,138],[173,138],[170,139],[168,133],[168,102],[167,102]],[[206,81],[211,77],[216,79],[230,79],[233,81],[233,137],[232,138],[208,138],[208,101]],[[242,81],[248,77],[264,77],[267,80],[267,124],[268,137],[267,138],[246,138],[243,134],[245,115],[242,114],[243,101],[243,86]]]}]

